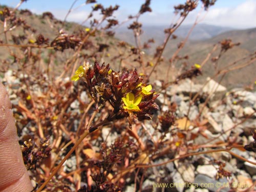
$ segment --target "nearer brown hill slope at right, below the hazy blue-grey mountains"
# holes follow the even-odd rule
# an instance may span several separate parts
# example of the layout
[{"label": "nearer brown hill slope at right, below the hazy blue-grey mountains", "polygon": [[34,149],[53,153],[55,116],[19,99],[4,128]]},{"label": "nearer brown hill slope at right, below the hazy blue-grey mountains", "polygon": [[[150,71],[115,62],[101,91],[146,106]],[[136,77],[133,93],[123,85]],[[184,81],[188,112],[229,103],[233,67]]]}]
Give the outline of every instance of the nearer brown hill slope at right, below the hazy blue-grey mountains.
[{"label": "nearer brown hill slope at right, below the hazy blue-grey mountains", "polygon": [[[228,32],[221,33],[215,37],[206,40],[199,41],[187,41],[182,51],[179,55],[188,55],[188,65],[194,65],[194,63],[201,63],[207,57],[208,53],[212,50],[215,44],[218,44],[223,39],[231,39],[232,42],[240,42],[240,46],[235,46],[227,52],[223,53],[218,61],[217,71],[225,66],[231,65],[231,67],[236,67],[245,63],[246,60],[242,59],[247,55],[254,54],[256,52],[256,28],[246,29],[246,30],[232,30]],[[182,39],[181,39],[182,40]],[[173,55],[174,51],[177,49],[177,41],[170,41],[163,56],[168,59]],[[220,46],[211,55],[209,60],[206,62],[203,70],[203,78],[199,78],[201,82],[204,81],[205,77],[212,76],[216,73],[214,67],[214,62],[211,61],[212,57],[218,56],[220,53]],[[184,60],[183,60],[184,61]],[[238,62],[237,62],[238,61]],[[181,63],[180,63],[181,64]],[[241,87],[249,82],[254,82],[255,80],[255,69],[256,62],[245,68],[234,70],[225,75],[222,80],[222,84],[228,88]]]}]

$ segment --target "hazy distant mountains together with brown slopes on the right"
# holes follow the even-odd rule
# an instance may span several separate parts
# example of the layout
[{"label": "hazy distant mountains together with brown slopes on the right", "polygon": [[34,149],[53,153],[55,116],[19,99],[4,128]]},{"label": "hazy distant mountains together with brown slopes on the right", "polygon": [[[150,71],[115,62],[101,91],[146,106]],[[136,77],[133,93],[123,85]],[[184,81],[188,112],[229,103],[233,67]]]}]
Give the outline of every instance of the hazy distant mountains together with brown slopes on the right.
[{"label": "hazy distant mountains together with brown slopes on the right", "polygon": [[[165,78],[165,73],[168,64],[168,60],[177,50],[178,44],[184,40],[184,37],[190,30],[191,26],[181,26],[179,30],[175,32],[178,36],[177,39],[171,39],[163,53],[165,57],[164,62],[161,64],[161,67],[158,69],[158,73],[161,74],[158,78]],[[143,34],[140,37],[141,45],[143,42],[147,41],[150,38],[155,39],[155,44],[151,44],[151,48],[145,50],[149,55],[155,53],[157,46],[161,45],[165,34],[163,32],[163,27],[153,27],[153,26],[144,26],[142,28]],[[134,35],[132,30],[127,30],[127,28],[120,28],[116,31],[116,37],[122,40],[129,42],[132,45],[135,45]],[[190,34],[189,40],[186,42],[184,48],[179,52],[179,56],[188,55],[188,60],[182,60],[175,63],[177,68],[182,65],[182,63],[187,62],[188,66],[194,65],[194,63],[201,63],[207,57],[208,53],[212,50],[215,44],[218,44],[223,39],[230,38],[232,42],[240,42],[241,45],[234,47],[231,50],[228,50],[223,54],[218,62],[218,67],[215,69],[211,58],[217,56],[220,52],[219,48],[211,55],[206,65],[203,67],[203,76],[199,77],[199,81],[203,83],[207,76],[212,76],[216,73],[218,69],[221,69],[225,66],[231,65],[233,62],[245,57],[246,55],[252,54],[256,51],[256,28],[246,29],[246,30],[234,30],[231,28],[211,26],[211,25],[198,25],[195,27],[194,31]],[[244,60],[240,62],[235,62],[237,66],[243,63]],[[222,84],[228,88],[232,87],[242,87],[249,82],[254,82],[255,80],[255,69],[256,63],[252,65],[229,72],[225,75],[225,78],[222,80]],[[174,72],[176,73],[176,72]]]}]

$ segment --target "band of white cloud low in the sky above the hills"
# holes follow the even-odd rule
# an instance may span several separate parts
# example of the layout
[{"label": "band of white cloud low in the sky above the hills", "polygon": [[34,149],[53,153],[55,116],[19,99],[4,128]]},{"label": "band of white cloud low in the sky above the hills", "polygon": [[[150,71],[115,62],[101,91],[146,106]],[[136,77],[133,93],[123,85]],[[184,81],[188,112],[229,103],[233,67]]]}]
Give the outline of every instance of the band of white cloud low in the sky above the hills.
[{"label": "band of white cloud low in the sky above the hills", "polygon": [[[217,3],[218,4],[218,1]],[[254,28],[256,27],[255,18],[256,18],[256,1],[255,0],[245,0],[237,6],[233,6],[230,3],[229,7],[220,7],[221,4],[210,7],[208,12],[202,11],[199,15],[199,18],[202,19],[200,23],[225,26],[232,28]],[[153,9],[154,10],[154,9]],[[61,9],[52,9],[50,10],[54,16],[58,19],[63,20],[68,12],[68,10]],[[116,17],[119,22],[123,22],[131,15],[131,10],[126,7],[120,7],[117,11],[114,12],[114,17]],[[40,14],[38,10],[33,10],[33,12]],[[72,22],[81,23],[89,15],[90,10],[88,9],[79,9],[72,11],[67,20]],[[185,19],[183,24],[193,24],[200,12],[200,8],[189,13],[188,17]],[[136,14],[136,13],[135,13]],[[134,15],[134,14],[133,14]],[[94,18],[100,19],[102,15],[99,12],[94,13]],[[155,11],[151,13],[145,13],[141,15],[139,22],[143,25],[166,25],[169,26],[172,23],[175,23],[178,19],[178,16],[175,16],[173,9],[168,9],[168,12]]]}]

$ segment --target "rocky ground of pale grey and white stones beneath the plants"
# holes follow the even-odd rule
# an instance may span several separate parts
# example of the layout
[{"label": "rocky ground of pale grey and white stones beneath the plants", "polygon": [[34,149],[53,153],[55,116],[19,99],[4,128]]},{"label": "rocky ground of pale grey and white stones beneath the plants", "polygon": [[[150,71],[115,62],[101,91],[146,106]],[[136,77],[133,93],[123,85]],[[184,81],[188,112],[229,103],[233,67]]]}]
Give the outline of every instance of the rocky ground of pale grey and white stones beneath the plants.
[{"label": "rocky ground of pale grey and white stones beneath the plants", "polygon": [[[20,89],[25,89],[25,86],[20,83],[19,78],[13,76],[11,71],[8,71],[1,81],[7,87],[12,104],[18,105],[19,98],[16,93]],[[225,146],[227,143],[232,143],[232,139],[236,143],[243,145],[253,142],[251,131],[253,132],[256,129],[255,89],[250,91],[244,89],[227,91],[225,87],[214,80],[209,80],[203,86],[202,84],[194,84],[189,79],[184,80],[179,85],[169,86],[163,91],[161,90],[160,81],[155,81],[153,85],[160,94],[158,105],[162,111],[168,110],[170,103],[175,102],[177,104],[176,115],[178,120],[176,129],[186,130],[190,134],[198,133],[201,128],[194,122],[199,114],[200,117],[204,117],[204,125],[207,129],[203,131],[203,135],[198,135],[194,140],[190,140],[191,145],[203,146],[203,144],[207,143],[207,145],[212,144],[214,146],[217,143],[223,143],[223,146]],[[31,92],[33,94],[39,93],[40,89],[40,87],[37,87],[36,89],[31,89]],[[198,99],[191,103],[191,98],[197,93],[199,93]],[[87,99],[86,92],[82,92],[80,99],[84,101]],[[207,100],[208,102],[204,104]],[[71,108],[74,111],[78,111],[79,102],[77,100],[73,101]],[[187,123],[184,124],[184,120]],[[152,124],[147,122],[145,126],[153,135],[153,139],[158,140],[160,135],[156,134]],[[23,132],[25,133],[26,130],[23,130]],[[108,137],[108,145],[110,145],[118,137],[118,134],[116,132],[109,134],[109,128],[103,127],[102,138],[106,137]],[[142,138],[142,140],[146,139]],[[172,134],[167,133],[165,139],[172,141]],[[201,151],[203,151],[203,147]],[[242,151],[239,148],[232,148],[231,152],[256,162],[254,152]],[[164,163],[170,158],[173,158],[172,154],[156,158],[151,163]],[[225,164],[217,166],[218,163],[209,163],[214,159],[225,162]],[[220,166],[223,166],[231,174],[230,177],[220,178],[219,180],[216,178]],[[75,168],[76,158],[73,156],[67,160],[64,170],[71,172]],[[179,161],[176,160],[161,166],[148,168],[146,169],[146,175],[147,178],[142,183],[143,191],[206,192],[256,190],[256,165],[245,162],[227,152],[190,156]],[[126,183],[130,184],[123,191],[135,191],[133,178],[127,178]],[[167,183],[168,187],[154,187],[156,183]],[[250,186],[252,187],[248,188]]]}]

